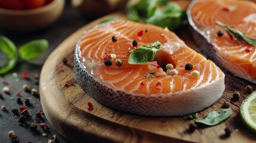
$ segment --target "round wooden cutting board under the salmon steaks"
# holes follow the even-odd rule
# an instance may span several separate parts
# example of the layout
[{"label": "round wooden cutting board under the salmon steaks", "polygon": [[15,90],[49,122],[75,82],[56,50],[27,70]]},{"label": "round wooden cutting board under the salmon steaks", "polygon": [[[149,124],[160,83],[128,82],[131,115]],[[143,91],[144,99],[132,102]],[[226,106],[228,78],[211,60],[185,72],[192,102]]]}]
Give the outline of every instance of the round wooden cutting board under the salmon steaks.
[{"label": "round wooden cutting board under the salmon steaks", "polygon": [[[226,74],[226,89],[223,97],[214,105],[199,112],[202,119],[209,111],[221,109],[224,101],[230,101],[232,93],[239,91],[242,97],[231,102],[233,114],[217,126],[198,128],[187,132],[193,120],[183,117],[148,117],[115,111],[99,104],[87,95],[73,79],[73,53],[76,42],[84,30],[90,29],[107,17],[124,17],[122,14],[107,15],[73,33],[63,41],[45,61],[41,71],[40,97],[45,116],[64,138],[70,142],[255,142],[256,136],[245,128],[239,117],[239,107],[248,95],[246,85],[256,86],[245,80]],[[185,31],[178,32],[191,48],[197,46]],[[62,60],[67,58],[67,65]],[[60,69],[63,68],[64,71]],[[66,87],[65,84],[69,84]],[[87,103],[94,105],[89,111]],[[235,131],[230,137],[224,136],[224,128]]]}]

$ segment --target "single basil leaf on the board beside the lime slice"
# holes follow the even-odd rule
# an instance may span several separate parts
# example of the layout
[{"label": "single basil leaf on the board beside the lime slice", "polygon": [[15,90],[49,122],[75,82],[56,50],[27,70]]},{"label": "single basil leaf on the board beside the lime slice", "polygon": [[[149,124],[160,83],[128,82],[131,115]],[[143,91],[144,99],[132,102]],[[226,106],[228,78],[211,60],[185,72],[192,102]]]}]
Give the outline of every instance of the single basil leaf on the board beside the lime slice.
[{"label": "single basil leaf on the board beside the lime slice", "polygon": [[223,122],[228,117],[232,115],[232,108],[221,109],[216,111],[211,111],[202,120],[196,120],[196,123],[202,123],[208,126],[214,126],[218,123]]}]

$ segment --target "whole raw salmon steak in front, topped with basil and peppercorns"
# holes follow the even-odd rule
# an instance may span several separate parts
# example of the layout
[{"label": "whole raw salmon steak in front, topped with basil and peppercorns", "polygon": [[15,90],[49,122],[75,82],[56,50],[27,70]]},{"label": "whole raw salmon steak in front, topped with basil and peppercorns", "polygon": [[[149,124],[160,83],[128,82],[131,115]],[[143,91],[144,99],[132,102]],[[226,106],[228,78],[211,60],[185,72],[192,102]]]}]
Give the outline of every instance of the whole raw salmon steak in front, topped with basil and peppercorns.
[{"label": "whole raw salmon steak in front, topped with basil and peppercorns", "polygon": [[[113,40],[113,36],[115,36]],[[132,44],[137,41],[137,45]],[[152,62],[129,64],[130,51],[161,42]],[[115,54],[121,67],[106,66]],[[186,64],[193,66],[186,70]],[[174,76],[164,66],[172,64]],[[162,66],[162,67],[161,67]],[[192,76],[197,70],[198,76]],[[76,83],[107,107],[146,116],[182,116],[214,104],[224,91],[224,73],[210,60],[189,48],[169,30],[151,24],[116,20],[99,24],[82,35],[75,48]]]}]

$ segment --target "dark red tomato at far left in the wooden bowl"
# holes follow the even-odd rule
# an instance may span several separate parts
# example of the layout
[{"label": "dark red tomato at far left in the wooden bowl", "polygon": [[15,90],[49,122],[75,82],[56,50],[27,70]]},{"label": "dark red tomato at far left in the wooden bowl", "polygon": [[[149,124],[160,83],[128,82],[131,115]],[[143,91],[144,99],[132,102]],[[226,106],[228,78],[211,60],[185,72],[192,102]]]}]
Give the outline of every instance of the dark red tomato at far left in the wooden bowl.
[{"label": "dark red tomato at far left in the wooden bowl", "polygon": [[0,0],[0,7],[11,10],[22,10],[23,4],[19,0]]}]

